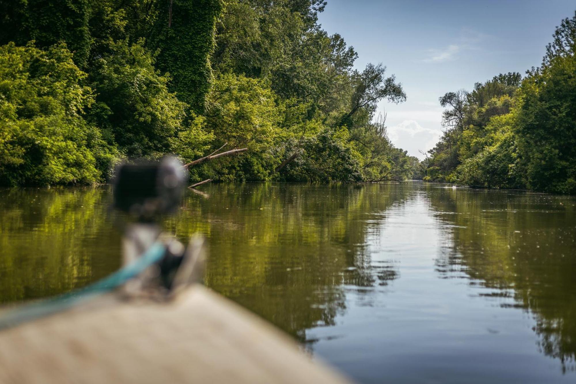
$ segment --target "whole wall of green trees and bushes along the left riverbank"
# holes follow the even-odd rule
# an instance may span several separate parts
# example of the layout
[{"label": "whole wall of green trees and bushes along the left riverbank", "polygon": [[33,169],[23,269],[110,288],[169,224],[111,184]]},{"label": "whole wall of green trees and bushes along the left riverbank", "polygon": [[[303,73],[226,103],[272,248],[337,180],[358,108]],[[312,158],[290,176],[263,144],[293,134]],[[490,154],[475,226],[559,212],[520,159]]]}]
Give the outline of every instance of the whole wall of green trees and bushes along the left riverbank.
[{"label": "whole wall of green trees and bushes along the left riverbank", "polygon": [[0,184],[97,183],[175,153],[193,180],[412,177],[381,64],[317,24],[322,0],[0,2]]}]

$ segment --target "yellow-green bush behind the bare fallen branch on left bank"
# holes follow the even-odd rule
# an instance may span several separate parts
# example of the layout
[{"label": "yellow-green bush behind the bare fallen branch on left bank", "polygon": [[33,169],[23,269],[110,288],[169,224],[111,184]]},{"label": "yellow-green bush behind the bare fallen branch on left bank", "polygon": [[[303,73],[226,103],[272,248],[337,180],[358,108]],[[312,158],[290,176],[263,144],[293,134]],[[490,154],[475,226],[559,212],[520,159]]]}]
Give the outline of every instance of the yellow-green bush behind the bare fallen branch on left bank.
[{"label": "yellow-green bush behind the bare fallen branch on left bank", "polygon": [[234,74],[218,76],[207,97],[203,129],[213,137],[214,148],[228,143],[225,149],[249,150],[204,165],[206,177],[269,180],[281,161],[276,152],[286,134],[279,126],[283,112],[281,101],[266,81]]}]

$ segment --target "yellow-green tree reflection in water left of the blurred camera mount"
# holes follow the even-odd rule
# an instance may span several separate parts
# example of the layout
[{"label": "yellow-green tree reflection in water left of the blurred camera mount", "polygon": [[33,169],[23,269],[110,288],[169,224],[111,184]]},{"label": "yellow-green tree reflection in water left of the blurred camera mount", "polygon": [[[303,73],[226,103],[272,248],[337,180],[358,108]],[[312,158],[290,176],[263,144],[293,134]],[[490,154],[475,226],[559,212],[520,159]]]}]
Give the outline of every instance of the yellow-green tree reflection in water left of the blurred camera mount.
[{"label": "yellow-green tree reflection in water left of the blurred camera mount", "polygon": [[109,187],[0,189],[0,303],[98,280],[120,265]]}]

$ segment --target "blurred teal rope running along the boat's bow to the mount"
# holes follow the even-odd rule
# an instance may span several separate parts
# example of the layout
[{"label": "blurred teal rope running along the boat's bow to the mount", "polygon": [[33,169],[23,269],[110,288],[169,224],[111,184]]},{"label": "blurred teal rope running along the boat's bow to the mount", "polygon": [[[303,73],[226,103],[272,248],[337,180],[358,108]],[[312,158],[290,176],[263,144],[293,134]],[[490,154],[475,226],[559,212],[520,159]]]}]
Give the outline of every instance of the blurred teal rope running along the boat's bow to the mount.
[{"label": "blurred teal rope running along the boat's bow to the mount", "polygon": [[0,317],[0,330],[67,310],[84,300],[112,291],[112,289],[120,287],[120,285],[123,285],[131,278],[137,277],[144,272],[149,266],[160,261],[164,256],[165,250],[164,244],[160,242],[154,243],[136,261],[120,268],[102,280],[96,281],[94,284],[63,293],[54,298],[17,307]]}]

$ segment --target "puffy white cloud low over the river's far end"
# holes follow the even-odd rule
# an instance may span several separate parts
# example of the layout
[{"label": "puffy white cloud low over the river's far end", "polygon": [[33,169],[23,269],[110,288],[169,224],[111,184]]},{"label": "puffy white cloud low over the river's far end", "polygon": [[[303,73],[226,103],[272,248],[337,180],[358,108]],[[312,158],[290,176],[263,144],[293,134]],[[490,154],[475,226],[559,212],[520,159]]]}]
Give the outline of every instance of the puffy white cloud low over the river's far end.
[{"label": "puffy white cloud low over the river's far end", "polygon": [[398,125],[388,127],[388,137],[394,145],[406,149],[408,155],[419,159],[425,157],[419,150],[426,152],[433,148],[441,135],[441,130],[422,127],[415,120],[405,120]]}]

